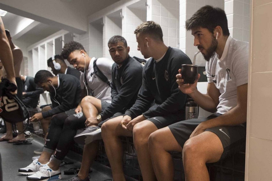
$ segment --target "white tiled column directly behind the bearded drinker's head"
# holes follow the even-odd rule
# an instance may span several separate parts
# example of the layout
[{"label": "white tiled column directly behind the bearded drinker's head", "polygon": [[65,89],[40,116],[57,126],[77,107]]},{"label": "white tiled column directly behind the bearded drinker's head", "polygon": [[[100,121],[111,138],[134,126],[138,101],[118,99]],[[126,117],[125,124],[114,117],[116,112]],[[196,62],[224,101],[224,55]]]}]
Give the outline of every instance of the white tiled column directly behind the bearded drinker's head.
[{"label": "white tiled column directly behind the bearded drinker's head", "polygon": [[225,0],[230,36],[249,42],[249,5],[250,0]]}]

